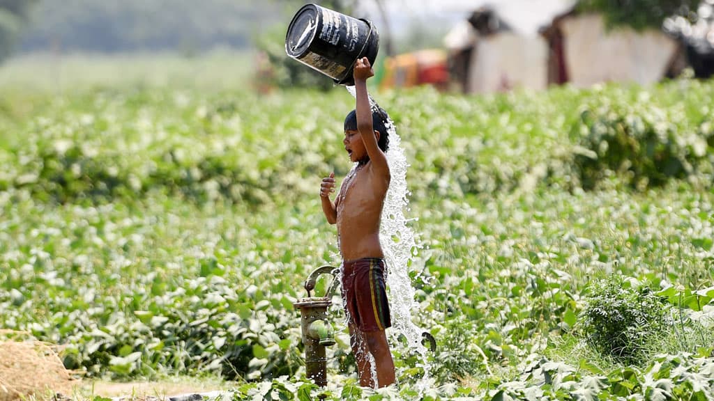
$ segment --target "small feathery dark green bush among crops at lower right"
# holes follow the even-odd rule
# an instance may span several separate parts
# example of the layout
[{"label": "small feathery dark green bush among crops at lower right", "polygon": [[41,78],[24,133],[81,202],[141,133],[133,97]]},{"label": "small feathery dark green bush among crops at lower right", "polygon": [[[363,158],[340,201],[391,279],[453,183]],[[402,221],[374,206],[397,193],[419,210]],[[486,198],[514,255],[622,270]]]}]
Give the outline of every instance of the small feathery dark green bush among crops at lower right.
[{"label": "small feathery dark green bush among crops at lower right", "polygon": [[636,362],[648,341],[672,325],[670,305],[648,287],[633,287],[621,275],[590,286],[580,313],[579,333],[605,356]]}]

